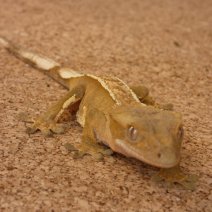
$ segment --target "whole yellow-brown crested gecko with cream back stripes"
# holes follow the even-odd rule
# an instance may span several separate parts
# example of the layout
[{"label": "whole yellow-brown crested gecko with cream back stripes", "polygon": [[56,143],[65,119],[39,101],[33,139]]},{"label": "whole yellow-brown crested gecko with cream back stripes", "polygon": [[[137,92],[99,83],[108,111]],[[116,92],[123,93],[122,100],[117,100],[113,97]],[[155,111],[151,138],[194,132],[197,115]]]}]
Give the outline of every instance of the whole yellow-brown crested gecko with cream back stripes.
[{"label": "whole yellow-brown crested gecko with cream back stripes", "polygon": [[159,167],[157,180],[194,188],[195,179],[184,174],[179,166],[184,134],[182,115],[170,105],[156,103],[145,86],[128,86],[110,75],[77,72],[4,37],[0,37],[0,44],[68,90],[34,119],[28,133],[64,133],[65,123],[75,114],[83,128],[82,139],[77,147],[70,144],[67,148],[77,150],[78,156],[89,154],[100,159],[117,152]]}]

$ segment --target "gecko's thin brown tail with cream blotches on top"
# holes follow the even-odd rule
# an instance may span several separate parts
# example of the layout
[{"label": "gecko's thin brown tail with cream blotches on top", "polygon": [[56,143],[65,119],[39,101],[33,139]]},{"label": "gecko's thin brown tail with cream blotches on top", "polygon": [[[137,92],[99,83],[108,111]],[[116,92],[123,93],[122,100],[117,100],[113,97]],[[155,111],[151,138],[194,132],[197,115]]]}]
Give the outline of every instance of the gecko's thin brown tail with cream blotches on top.
[{"label": "gecko's thin brown tail with cream blotches on top", "polygon": [[59,63],[48,57],[24,50],[3,37],[0,37],[0,45],[18,59],[42,71],[67,89],[69,88],[68,79],[82,76],[82,74],[70,68],[62,67]]}]

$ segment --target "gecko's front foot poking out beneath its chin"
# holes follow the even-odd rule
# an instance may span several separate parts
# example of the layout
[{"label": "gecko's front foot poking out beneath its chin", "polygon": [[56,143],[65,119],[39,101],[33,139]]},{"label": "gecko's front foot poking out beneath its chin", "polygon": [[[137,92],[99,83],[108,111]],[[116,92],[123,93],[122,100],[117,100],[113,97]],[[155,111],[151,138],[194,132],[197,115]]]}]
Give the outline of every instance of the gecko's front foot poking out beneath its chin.
[{"label": "gecko's front foot poking out beneath its chin", "polygon": [[196,175],[187,175],[182,172],[180,166],[176,166],[170,169],[161,169],[156,175],[152,177],[152,180],[156,182],[165,181],[169,185],[178,183],[185,189],[195,190],[198,177]]}]

